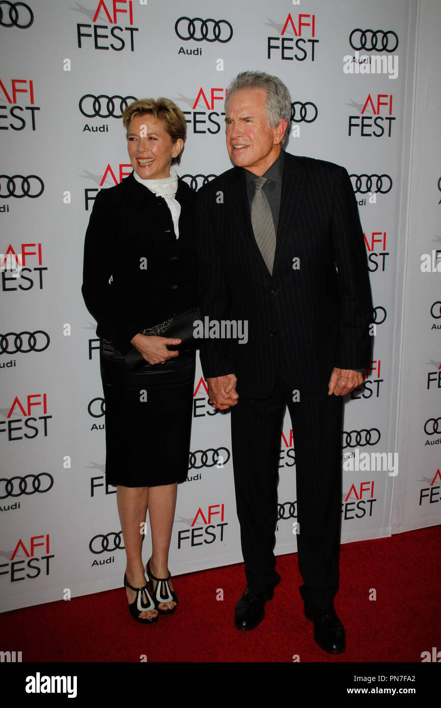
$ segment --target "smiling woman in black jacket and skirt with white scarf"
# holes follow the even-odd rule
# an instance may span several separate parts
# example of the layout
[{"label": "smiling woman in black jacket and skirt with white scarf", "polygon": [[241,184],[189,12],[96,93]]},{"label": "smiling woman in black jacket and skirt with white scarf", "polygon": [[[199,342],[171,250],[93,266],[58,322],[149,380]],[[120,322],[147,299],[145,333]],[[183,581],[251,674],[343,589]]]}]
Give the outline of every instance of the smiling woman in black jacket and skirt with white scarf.
[{"label": "smiling woman in black jacket and skirt with white scarf", "polygon": [[[167,320],[196,304],[195,193],[172,167],[185,142],[182,111],[166,98],[142,99],[122,120],[134,171],[96,197],[82,292],[103,339],[105,472],[117,485],[124,586],[134,619],[151,624],[178,604],[168,549],[177,483],[188,474],[195,353],[168,349],[181,339],[160,335]],[[142,563],[147,508],[149,583]]]}]

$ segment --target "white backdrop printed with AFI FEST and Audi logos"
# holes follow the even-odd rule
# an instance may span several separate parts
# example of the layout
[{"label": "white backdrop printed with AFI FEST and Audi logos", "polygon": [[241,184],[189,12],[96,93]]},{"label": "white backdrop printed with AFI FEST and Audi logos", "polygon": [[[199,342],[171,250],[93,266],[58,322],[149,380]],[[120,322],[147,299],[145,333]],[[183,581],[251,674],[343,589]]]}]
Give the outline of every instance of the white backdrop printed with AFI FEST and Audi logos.
[{"label": "white backdrop printed with AFI FEST and Audi logos", "polygon": [[[130,172],[126,101],[167,96],[182,108],[188,139],[178,173],[199,187],[229,169],[223,99],[245,69],[285,81],[288,152],[348,169],[365,232],[372,370],[348,397],[342,457],[348,466],[365,452],[371,463],[370,453],[398,453],[399,467],[343,472],[342,540],[390,535],[392,510],[394,531],[440,523],[440,457],[431,446],[441,440],[432,328],[441,321],[440,276],[420,268],[423,253],[433,260],[441,249],[440,16],[436,0],[0,3],[4,610],[122,583],[96,324],[80,292],[84,232],[97,191]],[[121,258],[127,248],[122,241]],[[199,366],[191,451],[173,574],[241,561],[229,416],[210,408]],[[296,550],[294,455],[287,416],[278,554]]]}]

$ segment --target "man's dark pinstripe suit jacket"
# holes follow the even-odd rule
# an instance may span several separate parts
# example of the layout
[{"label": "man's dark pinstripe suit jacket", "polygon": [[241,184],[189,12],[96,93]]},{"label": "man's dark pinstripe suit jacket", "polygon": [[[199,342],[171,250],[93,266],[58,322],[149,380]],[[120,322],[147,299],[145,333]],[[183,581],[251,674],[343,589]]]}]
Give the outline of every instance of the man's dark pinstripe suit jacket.
[{"label": "man's dark pinstripe suit jacket", "polygon": [[311,394],[327,391],[333,367],[367,366],[370,282],[343,167],[285,153],[273,275],[253,235],[242,169],[205,185],[197,212],[202,314],[248,321],[246,344],[205,343],[205,377],[234,373],[239,394],[266,398],[279,366]]}]

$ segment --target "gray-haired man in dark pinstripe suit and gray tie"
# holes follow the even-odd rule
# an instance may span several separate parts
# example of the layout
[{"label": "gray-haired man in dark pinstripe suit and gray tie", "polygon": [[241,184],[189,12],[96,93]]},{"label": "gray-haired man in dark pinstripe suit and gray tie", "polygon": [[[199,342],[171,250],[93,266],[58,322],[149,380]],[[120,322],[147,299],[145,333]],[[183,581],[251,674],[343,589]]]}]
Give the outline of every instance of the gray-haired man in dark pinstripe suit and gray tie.
[{"label": "gray-haired man in dark pinstripe suit and gray tie", "polygon": [[357,204],[345,169],[281,150],[291,99],[280,79],[239,74],[225,110],[235,167],[200,191],[198,231],[202,314],[248,324],[247,343],[211,340],[201,350],[212,405],[231,407],[247,580],[235,624],[256,627],[280,581],[273,547],[286,404],[296,456],[304,611],[319,646],[340,653],[345,632],[333,598],[342,397],[362,383],[372,315]]}]

